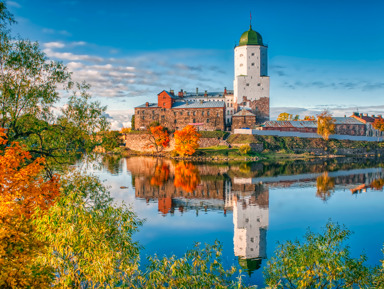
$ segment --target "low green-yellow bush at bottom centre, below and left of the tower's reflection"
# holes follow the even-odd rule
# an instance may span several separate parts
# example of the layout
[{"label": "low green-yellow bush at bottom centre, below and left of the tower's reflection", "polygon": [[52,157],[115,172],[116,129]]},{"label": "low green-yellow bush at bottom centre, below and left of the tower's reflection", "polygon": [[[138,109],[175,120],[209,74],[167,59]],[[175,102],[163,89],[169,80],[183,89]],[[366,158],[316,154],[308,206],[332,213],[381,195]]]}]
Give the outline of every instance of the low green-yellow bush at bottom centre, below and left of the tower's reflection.
[{"label": "low green-yellow bush at bottom centre, below and left of the tower's reflection", "polygon": [[146,271],[137,278],[138,288],[245,288],[234,277],[235,267],[225,270],[221,259],[222,246],[197,243],[182,258],[175,256],[149,258]]}]

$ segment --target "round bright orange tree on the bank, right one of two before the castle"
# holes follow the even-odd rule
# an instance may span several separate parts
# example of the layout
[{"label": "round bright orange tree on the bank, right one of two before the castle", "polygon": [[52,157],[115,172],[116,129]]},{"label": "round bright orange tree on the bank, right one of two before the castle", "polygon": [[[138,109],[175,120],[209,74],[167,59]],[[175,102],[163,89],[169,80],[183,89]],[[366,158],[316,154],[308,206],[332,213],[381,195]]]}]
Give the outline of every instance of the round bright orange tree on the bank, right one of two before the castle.
[{"label": "round bright orange tree on the bank, right one of two before the castle", "polygon": [[193,155],[199,147],[200,134],[192,125],[175,131],[175,151],[181,155]]}]

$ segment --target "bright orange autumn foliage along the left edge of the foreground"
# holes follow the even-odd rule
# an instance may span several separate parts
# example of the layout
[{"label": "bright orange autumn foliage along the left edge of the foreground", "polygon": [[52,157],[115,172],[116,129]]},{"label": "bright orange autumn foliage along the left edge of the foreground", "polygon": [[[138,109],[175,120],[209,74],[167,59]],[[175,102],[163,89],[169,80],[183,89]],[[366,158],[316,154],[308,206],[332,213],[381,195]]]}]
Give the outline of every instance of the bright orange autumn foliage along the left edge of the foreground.
[{"label": "bright orange autumn foliage along the left edge of the foreground", "polygon": [[[0,145],[6,146],[0,129]],[[0,287],[44,288],[50,270],[33,265],[43,244],[33,236],[34,210],[46,210],[59,195],[58,177],[44,180],[44,159],[29,163],[31,155],[18,143],[0,151]]]}]

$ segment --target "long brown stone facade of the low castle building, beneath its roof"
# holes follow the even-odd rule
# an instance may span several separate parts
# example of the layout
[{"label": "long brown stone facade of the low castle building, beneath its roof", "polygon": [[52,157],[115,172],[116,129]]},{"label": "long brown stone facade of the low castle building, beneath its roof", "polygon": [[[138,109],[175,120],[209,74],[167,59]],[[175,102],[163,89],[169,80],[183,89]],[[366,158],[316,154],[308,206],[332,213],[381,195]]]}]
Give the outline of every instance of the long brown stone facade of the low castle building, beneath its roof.
[{"label": "long brown stone facade of the low castle building, beneath its roof", "polygon": [[190,123],[201,123],[199,130],[225,130],[225,109],[136,107],[135,129],[145,129],[157,121],[169,130],[182,129]]}]

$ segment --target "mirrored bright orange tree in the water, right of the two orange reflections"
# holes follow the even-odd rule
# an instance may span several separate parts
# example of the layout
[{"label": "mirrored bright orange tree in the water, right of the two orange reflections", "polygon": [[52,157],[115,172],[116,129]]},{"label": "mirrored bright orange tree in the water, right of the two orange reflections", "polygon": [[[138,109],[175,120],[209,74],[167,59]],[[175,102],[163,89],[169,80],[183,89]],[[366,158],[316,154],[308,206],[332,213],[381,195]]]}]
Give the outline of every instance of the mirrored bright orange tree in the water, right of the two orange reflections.
[{"label": "mirrored bright orange tree in the water, right of the two orange reflections", "polygon": [[197,168],[191,163],[180,162],[175,166],[175,180],[173,182],[176,188],[181,188],[190,193],[200,184],[200,175]]}]

